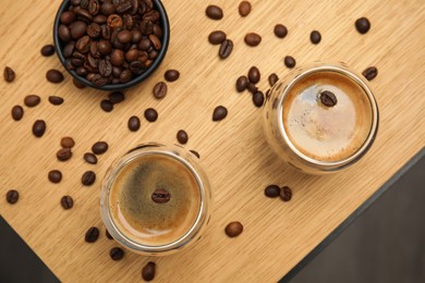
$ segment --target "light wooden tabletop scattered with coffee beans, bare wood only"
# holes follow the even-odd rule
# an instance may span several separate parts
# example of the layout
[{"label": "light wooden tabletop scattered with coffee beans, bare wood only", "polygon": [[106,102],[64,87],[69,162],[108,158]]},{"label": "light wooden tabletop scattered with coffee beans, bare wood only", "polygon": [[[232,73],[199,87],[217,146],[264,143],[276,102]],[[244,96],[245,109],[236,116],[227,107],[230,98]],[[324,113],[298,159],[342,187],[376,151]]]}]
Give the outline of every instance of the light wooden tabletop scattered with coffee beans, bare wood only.
[{"label": "light wooden tabletop scattered with coffee beans, bare wood only", "polygon": [[[0,66],[13,67],[16,79],[0,82],[0,213],[64,282],[138,281],[142,267],[153,258],[126,253],[112,261],[109,250],[117,244],[106,238],[99,214],[100,180],[113,159],[133,146],[150,140],[175,143],[180,128],[190,135],[187,149],[201,153],[215,193],[215,208],[208,229],[193,248],[154,260],[158,282],[271,282],[282,278],[320,243],[351,212],[374,194],[425,145],[425,4],[423,0],[400,1],[278,1],[253,0],[252,13],[242,19],[239,1],[165,0],[171,22],[171,44],[159,70],[143,85],[126,91],[126,100],[111,113],[104,112],[100,91],[76,89],[70,76],[60,85],[45,78],[49,69],[63,70],[56,57],[42,58],[39,49],[52,42],[51,27],[60,1],[2,0],[0,5]],[[224,17],[205,16],[209,3],[223,8]],[[357,17],[367,16],[372,29],[360,35]],[[288,26],[284,39],[275,37],[278,23]],[[234,41],[227,60],[217,57],[218,47],[207,41],[211,30],[223,29]],[[319,45],[309,33],[323,35]],[[248,32],[263,36],[250,48],[243,42]],[[380,110],[380,126],[371,151],[353,168],[335,175],[308,176],[288,168],[268,148],[262,132],[262,111],[247,93],[238,94],[234,82],[252,65],[267,76],[284,76],[287,54],[298,64],[315,60],[343,61],[357,72],[376,65],[379,75],[371,82]],[[168,69],[181,78],[169,84],[163,100],[155,100],[153,86]],[[22,121],[10,115],[26,95],[41,96],[41,103],[28,109]],[[60,107],[48,96],[65,99]],[[229,109],[226,120],[215,123],[215,107]],[[127,119],[143,116],[146,108],[159,112],[155,123],[143,119],[142,128],[131,133]],[[47,121],[41,138],[32,134],[35,120]],[[76,146],[68,162],[56,151],[62,136]],[[83,161],[83,153],[98,140],[110,150],[97,165]],[[60,184],[47,173],[59,169]],[[81,175],[97,173],[92,187],[83,187]],[[293,199],[282,202],[264,196],[270,183],[289,185]],[[4,195],[15,188],[21,197],[9,205]],[[75,206],[63,210],[59,201],[71,195]],[[223,227],[239,220],[244,232],[228,238]],[[89,226],[102,233],[94,244],[84,242]]]}]

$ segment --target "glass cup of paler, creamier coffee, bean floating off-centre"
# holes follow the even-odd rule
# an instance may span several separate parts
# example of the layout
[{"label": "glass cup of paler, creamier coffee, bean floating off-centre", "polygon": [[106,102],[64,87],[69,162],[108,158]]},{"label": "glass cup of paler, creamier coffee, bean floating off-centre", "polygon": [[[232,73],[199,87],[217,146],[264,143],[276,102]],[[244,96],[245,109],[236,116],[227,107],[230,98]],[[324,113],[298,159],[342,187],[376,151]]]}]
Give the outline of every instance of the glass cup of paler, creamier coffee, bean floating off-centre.
[{"label": "glass cup of paler, creamier coffee, bean floating off-centre", "polygon": [[374,143],[378,122],[371,88],[343,63],[291,71],[270,89],[263,112],[270,147],[311,174],[338,172],[359,161]]}]

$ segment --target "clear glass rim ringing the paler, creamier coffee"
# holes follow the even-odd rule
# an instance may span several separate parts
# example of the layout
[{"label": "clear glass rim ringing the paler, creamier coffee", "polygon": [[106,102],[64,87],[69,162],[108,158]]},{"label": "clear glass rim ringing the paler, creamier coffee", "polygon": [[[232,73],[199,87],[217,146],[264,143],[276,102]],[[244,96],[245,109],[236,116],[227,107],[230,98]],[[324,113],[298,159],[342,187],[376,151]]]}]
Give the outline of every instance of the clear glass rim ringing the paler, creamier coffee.
[{"label": "clear glass rim ringing the paler, creamier coffee", "polygon": [[[303,67],[299,67],[296,70],[300,71],[300,70],[303,70]],[[317,159],[314,159],[314,158],[311,158],[311,157],[304,155],[291,142],[291,139],[288,136],[287,131],[284,130],[284,125],[283,125],[282,114],[283,114],[284,98],[287,97],[289,91],[294,87],[295,84],[298,84],[304,77],[309,76],[309,75],[317,73],[317,72],[333,72],[333,73],[338,73],[340,75],[348,77],[349,79],[351,79],[353,83],[355,83],[356,85],[359,85],[363,89],[363,94],[365,94],[367,96],[368,101],[369,101],[369,106],[371,106],[372,124],[371,124],[371,128],[369,128],[369,133],[367,135],[367,138],[363,142],[363,145],[354,153],[352,153],[351,156],[349,156],[347,158],[338,160],[338,161],[317,160]],[[367,151],[367,149],[371,147],[372,143],[375,139],[376,132],[378,128],[378,120],[379,120],[378,106],[376,103],[376,99],[375,99],[371,88],[359,75],[356,75],[355,73],[353,73],[352,71],[347,69],[344,63],[317,64],[315,66],[303,70],[300,74],[294,76],[291,79],[291,82],[284,87],[284,89],[281,91],[281,94],[279,95],[277,114],[279,118],[279,120],[278,120],[279,121],[278,122],[279,134],[282,136],[282,138],[284,139],[287,145],[290,147],[290,149],[299,158],[303,159],[304,161],[306,161],[311,164],[325,167],[325,168],[344,167],[345,164],[350,164],[351,162],[361,158]]]}]

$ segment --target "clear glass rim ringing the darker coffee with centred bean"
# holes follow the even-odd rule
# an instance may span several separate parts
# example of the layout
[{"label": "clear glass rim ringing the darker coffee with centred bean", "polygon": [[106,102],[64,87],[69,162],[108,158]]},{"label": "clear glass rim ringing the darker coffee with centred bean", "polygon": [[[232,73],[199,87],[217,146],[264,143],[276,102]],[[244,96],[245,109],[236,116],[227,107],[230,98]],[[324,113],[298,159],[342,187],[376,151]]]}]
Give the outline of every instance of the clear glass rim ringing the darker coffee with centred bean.
[{"label": "clear glass rim ringing the darker coffee with centred bean", "polygon": [[[113,169],[111,171],[107,172],[105,180],[107,180],[107,177],[112,175],[112,174],[120,173],[120,171],[125,165],[127,165],[133,160],[135,160],[136,158],[142,157],[142,156],[161,155],[161,156],[167,156],[167,157],[173,158],[173,159],[178,160],[179,162],[181,162],[187,170],[190,170],[190,172],[193,174],[193,176],[196,180],[197,187],[198,187],[199,193],[201,193],[201,206],[199,206],[199,210],[198,210],[197,216],[196,216],[196,220],[192,224],[191,229],[187,230],[186,233],[184,233],[180,238],[178,238],[171,243],[168,243],[165,245],[158,245],[158,246],[151,246],[151,245],[145,245],[145,244],[138,243],[134,239],[131,239],[129,236],[126,236],[125,233],[123,233],[118,227],[118,225],[116,224],[116,221],[113,221],[112,213],[111,213],[110,207],[109,207],[109,197],[110,197],[112,183],[110,183],[108,185],[107,183],[104,182],[102,186],[101,186],[101,190],[108,189],[107,196],[105,199],[107,204],[102,204],[104,199],[102,199],[102,197],[100,198],[100,210],[106,209],[106,212],[107,212],[106,216],[104,217],[104,222],[106,223],[107,226],[111,225],[113,227],[113,230],[109,231],[110,234],[117,233],[120,236],[120,238],[124,239],[125,246],[129,245],[127,247],[130,247],[131,249],[135,249],[138,251],[145,251],[145,253],[146,251],[147,253],[161,253],[161,251],[169,251],[172,249],[181,248],[182,246],[184,246],[191,242],[191,239],[202,229],[202,226],[204,224],[203,222],[206,221],[205,212],[207,210],[207,208],[206,208],[207,196],[206,196],[205,186],[203,184],[202,177],[199,176],[199,174],[196,172],[196,170],[193,168],[193,165],[190,162],[187,162],[184,158],[175,155],[174,151],[170,150],[170,148],[168,146],[166,146],[166,147],[167,148],[162,149],[162,150],[154,148],[147,152],[138,152],[137,153],[137,150],[141,150],[142,148],[137,148],[137,149],[134,149],[134,150],[126,152],[124,156],[122,156],[121,158],[116,160],[117,163],[114,162],[116,164],[113,164]],[[134,155],[134,156],[129,157],[130,155]]]}]

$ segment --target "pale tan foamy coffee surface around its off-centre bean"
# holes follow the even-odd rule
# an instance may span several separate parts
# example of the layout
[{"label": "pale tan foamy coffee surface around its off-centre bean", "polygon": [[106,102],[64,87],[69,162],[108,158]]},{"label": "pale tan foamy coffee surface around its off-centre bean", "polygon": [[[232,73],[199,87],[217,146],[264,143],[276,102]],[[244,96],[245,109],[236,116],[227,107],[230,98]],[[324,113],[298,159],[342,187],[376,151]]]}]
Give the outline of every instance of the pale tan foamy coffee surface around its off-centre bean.
[{"label": "pale tan foamy coffee surface around its off-centre bean", "polygon": [[[321,91],[338,102],[326,107]],[[364,89],[337,72],[316,72],[296,82],[283,99],[283,127],[294,147],[318,161],[336,162],[351,157],[367,139],[373,121]]]}]

